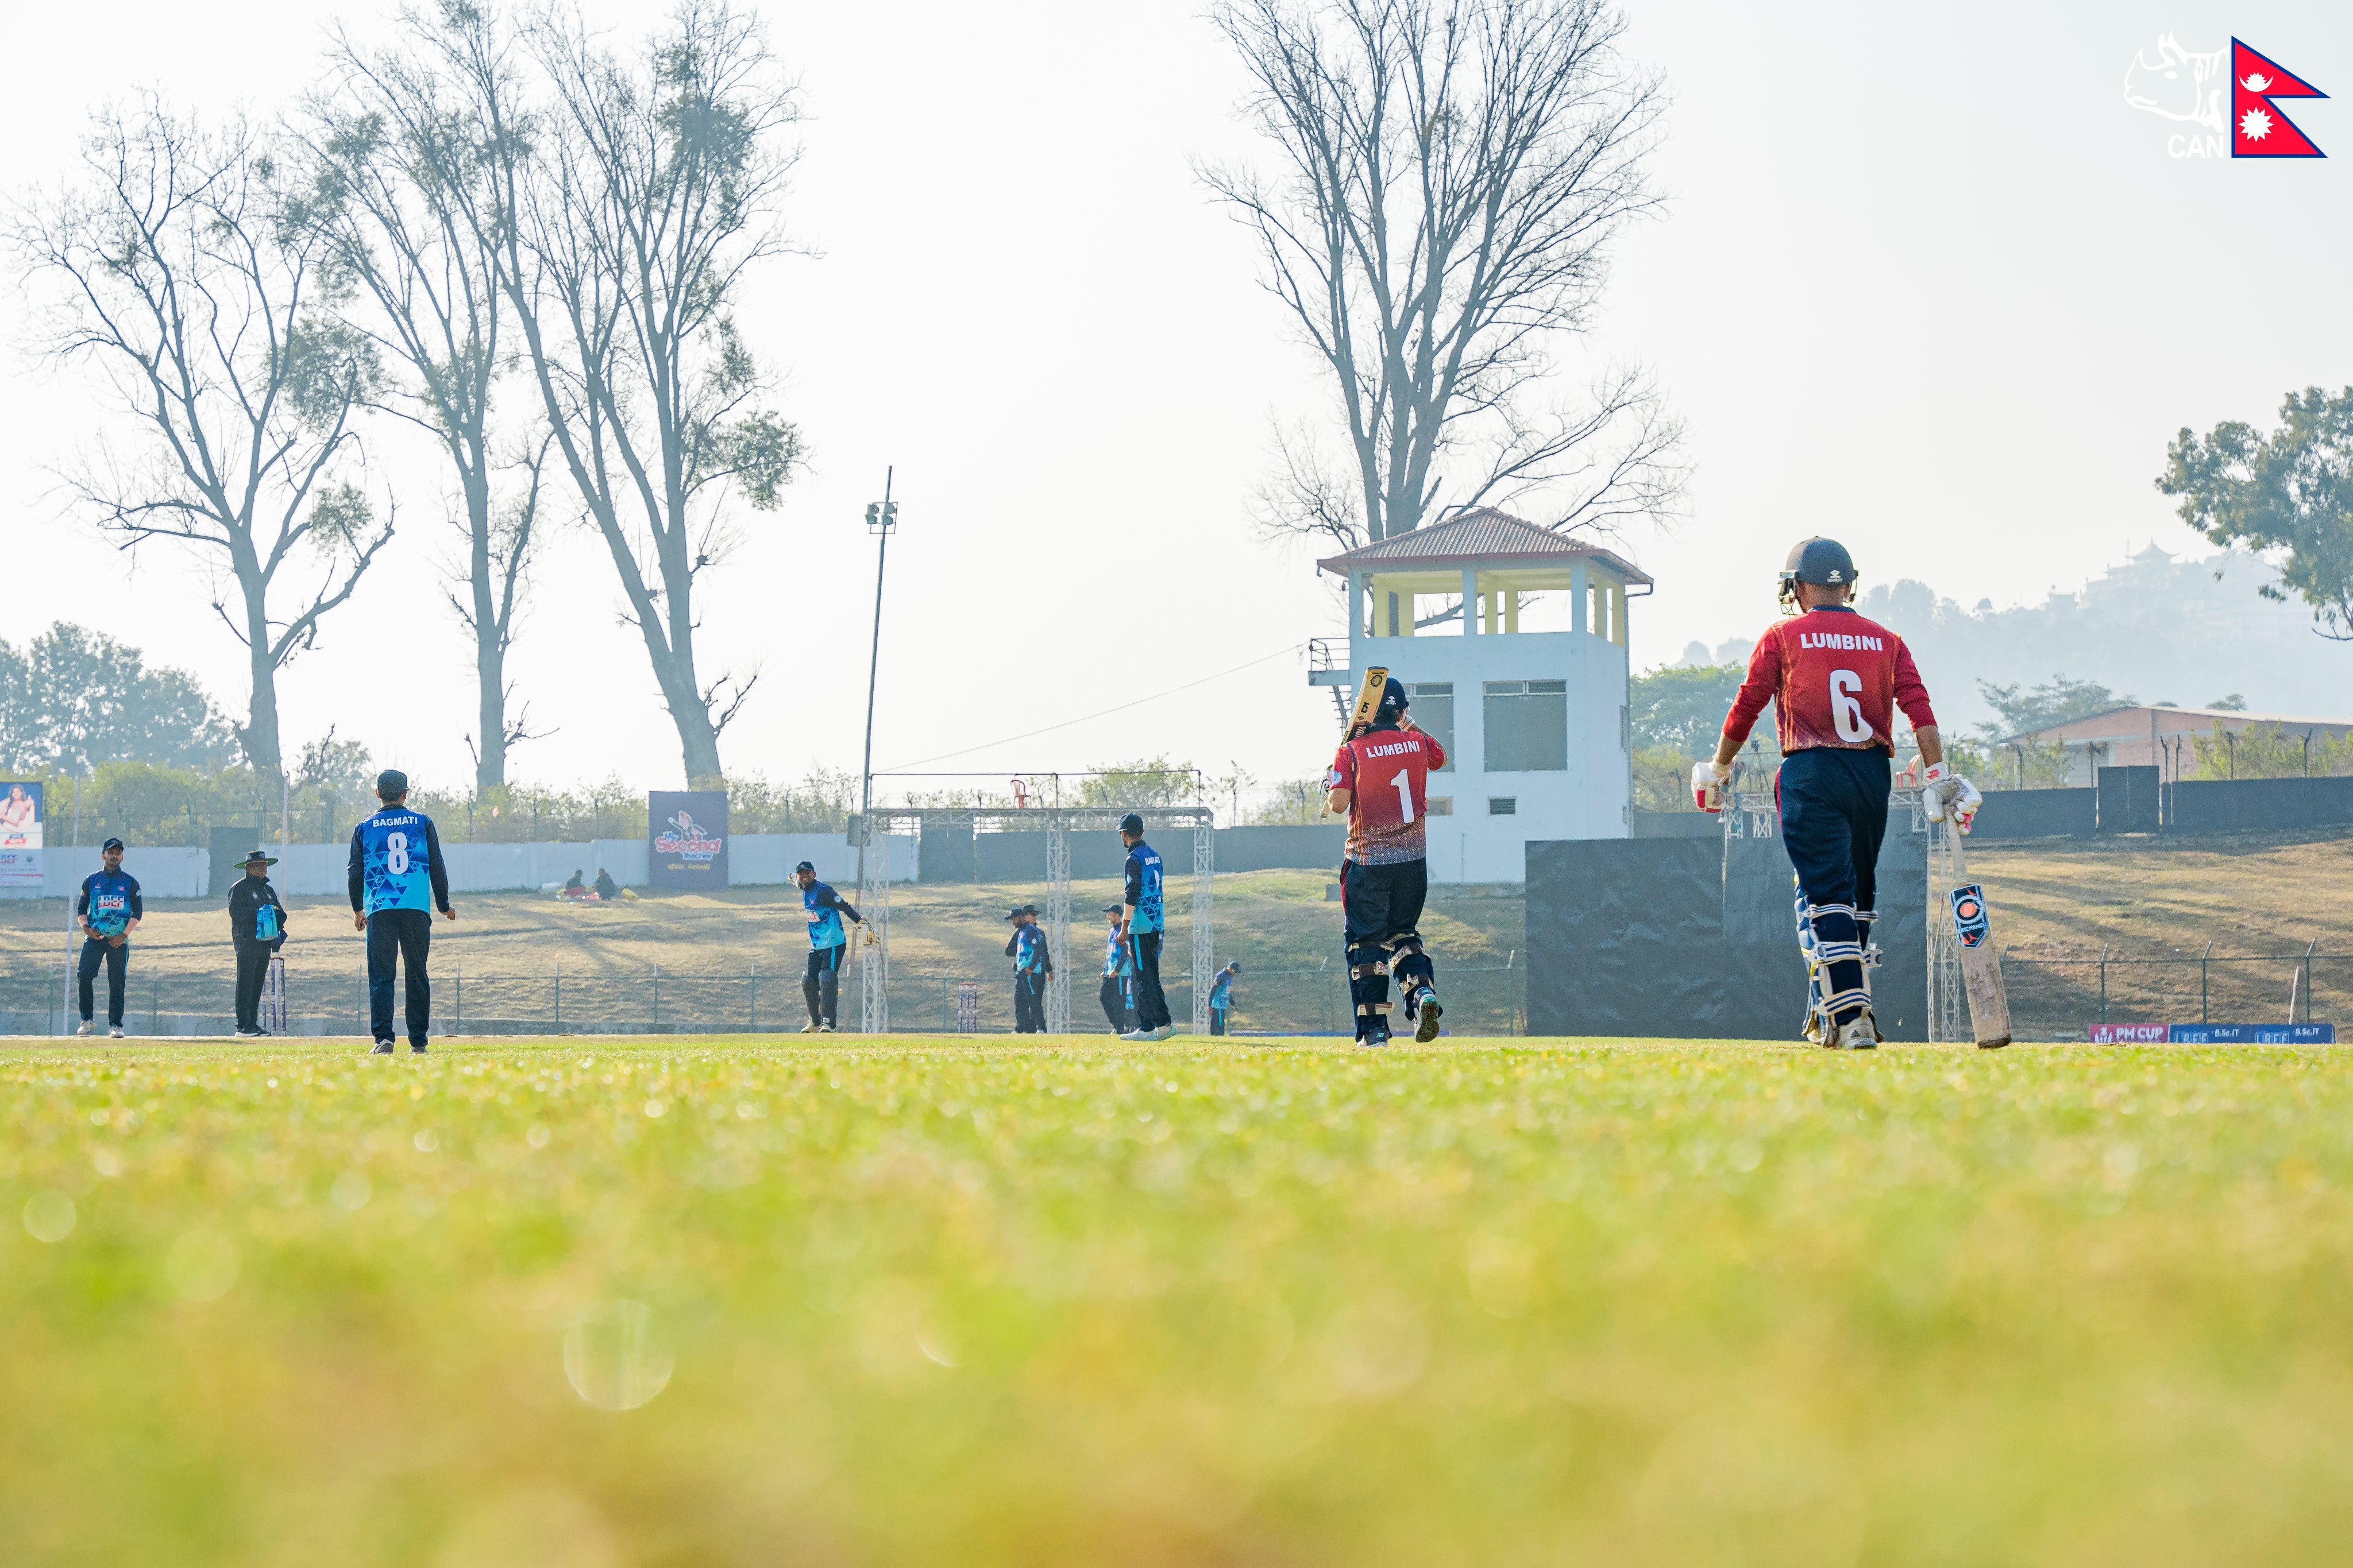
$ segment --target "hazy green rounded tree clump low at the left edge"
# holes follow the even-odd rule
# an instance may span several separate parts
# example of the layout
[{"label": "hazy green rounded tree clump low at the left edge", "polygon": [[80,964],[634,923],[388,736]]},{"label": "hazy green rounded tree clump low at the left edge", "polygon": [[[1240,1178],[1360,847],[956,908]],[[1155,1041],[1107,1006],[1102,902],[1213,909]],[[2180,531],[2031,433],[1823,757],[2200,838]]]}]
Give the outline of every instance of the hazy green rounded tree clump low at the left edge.
[{"label": "hazy green rounded tree clump low at the left edge", "polygon": [[24,651],[0,642],[0,766],[198,766],[226,759],[235,743],[193,675],[151,670],[139,649],[113,637],[59,621]]}]

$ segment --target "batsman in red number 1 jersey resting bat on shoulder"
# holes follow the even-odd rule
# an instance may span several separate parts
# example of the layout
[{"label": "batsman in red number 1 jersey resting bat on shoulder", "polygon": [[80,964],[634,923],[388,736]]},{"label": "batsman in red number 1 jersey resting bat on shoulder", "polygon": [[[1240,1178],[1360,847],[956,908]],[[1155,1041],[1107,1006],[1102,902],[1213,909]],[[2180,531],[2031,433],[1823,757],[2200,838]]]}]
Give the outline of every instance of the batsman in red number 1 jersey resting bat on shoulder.
[{"label": "batsman in red number 1 jersey resting bat on shoulder", "polygon": [[1348,940],[1348,997],[1355,1044],[1388,1044],[1388,976],[1398,976],[1414,1039],[1438,1039],[1438,971],[1421,950],[1421,900],[1431,889],[1426,858],[1431,769],[1447,752],[1405,717],[1405,684],[1381,686],[1372,724],[1351,733],[1325,771],[1325,809],[1348,818],[1339,867],[1339,907]]}]

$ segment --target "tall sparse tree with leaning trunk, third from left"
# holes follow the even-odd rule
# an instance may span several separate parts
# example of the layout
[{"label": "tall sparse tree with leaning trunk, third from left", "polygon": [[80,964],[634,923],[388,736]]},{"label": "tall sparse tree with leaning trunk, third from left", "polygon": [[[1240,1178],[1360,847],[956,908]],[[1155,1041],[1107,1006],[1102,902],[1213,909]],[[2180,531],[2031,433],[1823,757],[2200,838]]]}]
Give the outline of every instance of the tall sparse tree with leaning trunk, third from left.
[{"label": "tall sparse tree with leaning trunk, third from left", "polygon": [[736,541],[725,501],[774,510],[800,463],[734,324],[751,270],[786,249],[795,92],[725,0],[680,0],[635,63],[576,16],[544,16],[532,45],[553,101],[520,181],[511,299],[687,778],[713,778],[758,672],[699,672],[694,585]]}]

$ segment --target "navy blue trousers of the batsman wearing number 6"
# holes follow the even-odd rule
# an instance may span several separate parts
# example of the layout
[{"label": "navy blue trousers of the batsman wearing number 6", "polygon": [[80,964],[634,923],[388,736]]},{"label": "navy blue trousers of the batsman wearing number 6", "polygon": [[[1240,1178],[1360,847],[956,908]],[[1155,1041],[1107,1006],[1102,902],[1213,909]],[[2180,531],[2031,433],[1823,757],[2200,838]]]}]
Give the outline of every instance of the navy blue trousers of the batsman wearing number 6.
[{"label": "navy blue trousers of the batsman wearing number 6", "polygon": [[1880,842],[1887,837],[1887,752],[1809,748],[1781,759],[1774,795],[1781,846],[1798,867],[1814,952],[1828,966],[1824,1006],[1845,1023],[1864,1009],[1864,931],[1878,907]]}]

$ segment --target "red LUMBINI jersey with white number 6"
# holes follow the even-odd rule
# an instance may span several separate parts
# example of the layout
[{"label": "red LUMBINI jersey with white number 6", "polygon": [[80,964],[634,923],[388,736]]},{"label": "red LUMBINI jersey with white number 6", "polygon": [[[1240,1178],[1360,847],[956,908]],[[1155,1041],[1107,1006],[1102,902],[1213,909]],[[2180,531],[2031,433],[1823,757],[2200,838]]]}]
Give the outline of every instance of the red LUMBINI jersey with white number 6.
[{"label": "red LUMBINI jersey with white number 6", "polygon": [[1758,639],[1725,719],[1734,745],[1748,738],[1765,703],[1774,705],[1784,752],[1835,745],[1892,755],[1897,708],[1913,729],[1937,722],[1911,649],[1852,609],[1812,609]]}]

